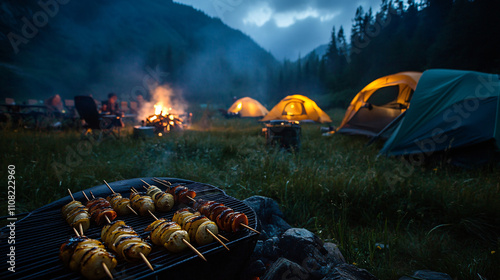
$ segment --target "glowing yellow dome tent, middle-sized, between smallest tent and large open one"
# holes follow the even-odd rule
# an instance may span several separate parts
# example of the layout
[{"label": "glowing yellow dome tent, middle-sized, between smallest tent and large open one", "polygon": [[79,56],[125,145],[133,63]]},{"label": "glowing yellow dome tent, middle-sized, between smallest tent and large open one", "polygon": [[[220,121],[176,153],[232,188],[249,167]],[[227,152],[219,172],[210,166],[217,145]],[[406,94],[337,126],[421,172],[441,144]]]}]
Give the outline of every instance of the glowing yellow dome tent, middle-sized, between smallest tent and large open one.
[{"label": "glowing yellow dome tent, middle-sized, between smallest tent and large open one", "polygon": [[283,98],[261,121],[271,120],[332,122],[316,102],[298,94]]}]

